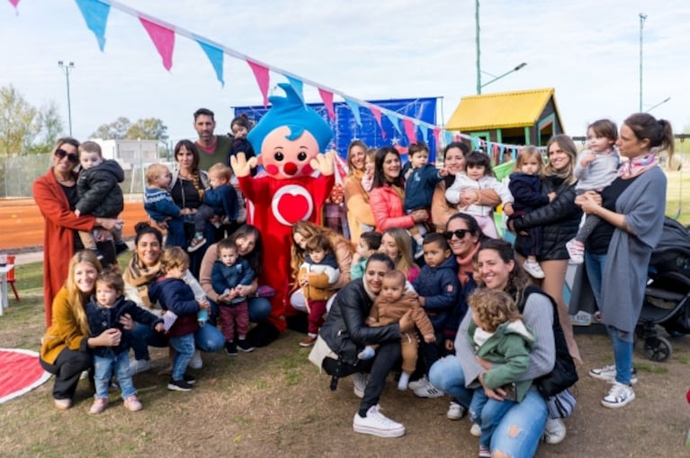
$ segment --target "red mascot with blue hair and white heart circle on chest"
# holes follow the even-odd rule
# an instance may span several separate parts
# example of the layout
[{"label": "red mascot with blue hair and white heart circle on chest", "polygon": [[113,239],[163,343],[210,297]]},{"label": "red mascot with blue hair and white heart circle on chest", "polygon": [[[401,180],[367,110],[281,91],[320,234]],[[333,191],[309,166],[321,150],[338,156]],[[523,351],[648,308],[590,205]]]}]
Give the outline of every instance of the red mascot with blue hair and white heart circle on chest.
[{"label": "red mascot with blue hair and white heart circle on chest", "polygon": [[[335,153],[319,154],[333,137],[331,128],[290,84],[278,85],[285,97],[271,96],[271,110],[246,136],[260,152],[258,157],[246,160],[240,153],[231,158],[239,187],[254,207],[247,222],[258,228],[264,244],[259,283],[275,290],[270,316],[247,336],[257,347],[277,339],[287,327],[292,225],[300,220],[320,224],[321,208],[335,181]],[[265,176],[251,176],[257,164],[264,167]],[[320,173],[315,176],[315,172]]]}]

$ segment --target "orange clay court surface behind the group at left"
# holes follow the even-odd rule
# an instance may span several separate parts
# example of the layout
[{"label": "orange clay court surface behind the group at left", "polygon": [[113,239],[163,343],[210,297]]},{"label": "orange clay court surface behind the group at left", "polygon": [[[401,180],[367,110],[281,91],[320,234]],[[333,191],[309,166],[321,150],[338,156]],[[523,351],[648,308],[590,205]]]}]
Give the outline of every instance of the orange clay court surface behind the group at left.
[{"label": "orange clay court surface behind the group at left", "polygon": [[[125,202],[121,214],[124,236],[134,236],[134,225],[148,221],[143,202]],[[43,216],[32,199],[0,199],[0,250],[42,247]]]}]

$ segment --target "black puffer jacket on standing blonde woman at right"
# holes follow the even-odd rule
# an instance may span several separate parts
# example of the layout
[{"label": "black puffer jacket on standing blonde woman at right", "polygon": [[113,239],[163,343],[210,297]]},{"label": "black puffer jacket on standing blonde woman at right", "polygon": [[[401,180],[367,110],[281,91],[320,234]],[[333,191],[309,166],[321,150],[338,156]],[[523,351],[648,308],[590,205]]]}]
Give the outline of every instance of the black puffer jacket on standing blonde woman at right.
[{"label": "black puffer jacket on standing blonde woman at right", "polygon": [[535,226],[542,226],[542,250],[537,256],[538,260],[567,260],[569,259],[566,242],[578,233],[582,209],[575,205],[575,185],[564,183],[557,176],[545,177],[542,180],[542,194],[548,195],[556,192],[553,201],[539,207],[533,212],[513,220],[515,232],[515,250],[526,256],[529,251],[528,242],[519,233]]}]

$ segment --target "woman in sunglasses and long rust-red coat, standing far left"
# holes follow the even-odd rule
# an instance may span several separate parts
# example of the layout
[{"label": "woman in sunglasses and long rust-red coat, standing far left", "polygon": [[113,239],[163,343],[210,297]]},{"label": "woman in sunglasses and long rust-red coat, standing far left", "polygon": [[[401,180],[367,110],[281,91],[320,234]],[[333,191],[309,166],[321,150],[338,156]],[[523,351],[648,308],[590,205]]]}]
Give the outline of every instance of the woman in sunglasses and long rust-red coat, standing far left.
[{"label": "woman in sunglasses and long rust-red coat, standing far left", "polygon": [[[76,231],[93,231],[102,227],[110,231],[122,227],[122,221],[95,216],[75,216],[79,197],[76,194],[76,164],[79,163],[79,142],[71,137],[59,138],[48,173],[33,182],[33,199],[45,219],[43,234],[43,302],[46,307],[46,326],[50,326],[51,307],[55,295],[65,284],[69,260],[84,247]],[[103,263],[115,262],[114,249],[99,246]]]}]

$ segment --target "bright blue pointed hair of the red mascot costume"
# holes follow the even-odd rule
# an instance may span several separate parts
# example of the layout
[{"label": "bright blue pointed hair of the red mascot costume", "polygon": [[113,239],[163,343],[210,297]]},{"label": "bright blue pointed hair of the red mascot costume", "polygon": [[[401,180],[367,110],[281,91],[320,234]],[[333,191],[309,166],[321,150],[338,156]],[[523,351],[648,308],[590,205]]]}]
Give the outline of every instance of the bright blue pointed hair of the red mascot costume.
[{"label": "bright blue pointed hair of the red mascot costume", "polygon": [[318,148],[321,152],[326,151],[328,142],[333,137],[333,131],[328,123],[321,118],[316,110],[308,107],[301,100],[297,92],[290,84],[278,84],[285,97],[272,95],[268,101],[273,105],[271,110],[246,135],[246,139],[254,147],[254,151],[261,152],[261,145],[264,138],[273,132],[274,129],[286,126],[290,129],[288,140],[300,138],[305,130],[316,138]]}]

